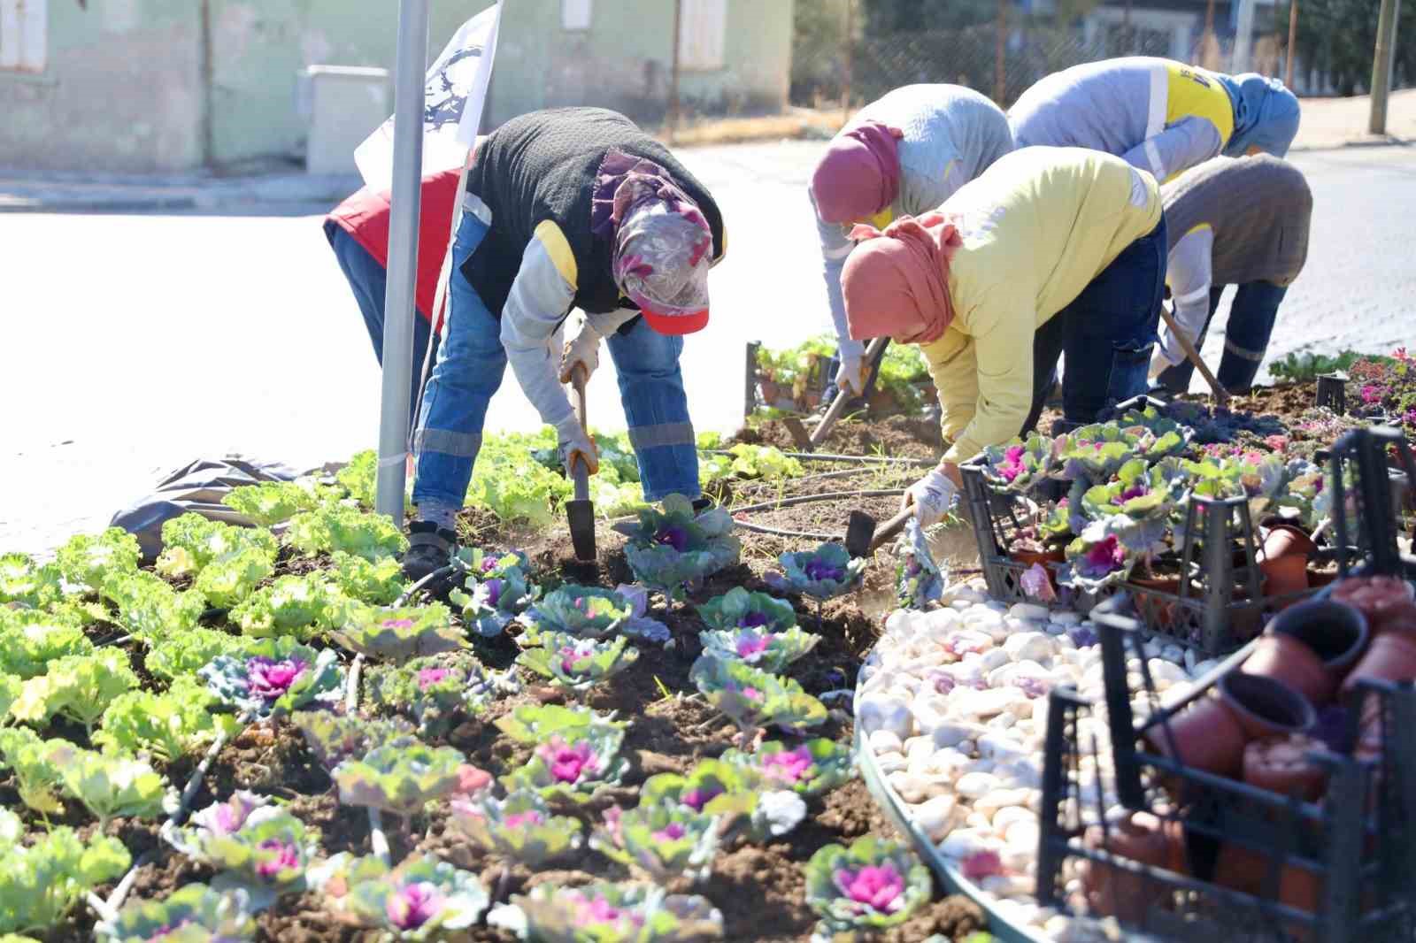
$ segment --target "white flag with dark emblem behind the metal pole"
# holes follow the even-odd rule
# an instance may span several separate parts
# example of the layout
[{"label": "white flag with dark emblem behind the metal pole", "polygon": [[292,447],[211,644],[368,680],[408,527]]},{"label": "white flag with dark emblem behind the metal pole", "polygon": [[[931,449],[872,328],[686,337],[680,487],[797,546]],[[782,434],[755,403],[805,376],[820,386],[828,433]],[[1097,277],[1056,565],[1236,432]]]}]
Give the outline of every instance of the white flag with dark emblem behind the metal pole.
[{"label": "white flag with dark emblem behind the metal pole", "polygon": [[[423,176],[460,167],[477,139],[497,57],[500,0],[462,24],[423,85]],[[372,190],[394,185],[394,119],[354,149],[354,163]]]}]

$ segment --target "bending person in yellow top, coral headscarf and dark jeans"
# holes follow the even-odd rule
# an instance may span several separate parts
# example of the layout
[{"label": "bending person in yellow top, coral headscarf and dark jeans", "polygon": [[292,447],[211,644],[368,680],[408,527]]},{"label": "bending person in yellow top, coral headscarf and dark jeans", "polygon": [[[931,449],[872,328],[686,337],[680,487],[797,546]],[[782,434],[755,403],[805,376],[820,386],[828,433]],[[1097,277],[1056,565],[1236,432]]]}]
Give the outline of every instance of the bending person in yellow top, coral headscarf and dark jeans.
[{"label": "bending person in yellow top, coral headscarf and dark jeans", "polygon": [[905,494],[920,524],[953,505],[960,462],[1037,423],[1063,351],[1063,428],[1144,392],[1165,219],[1155,178],[1121,159],[1015,150],[937,212],[852,235],[851,337],[922,347],[952,443]]}]

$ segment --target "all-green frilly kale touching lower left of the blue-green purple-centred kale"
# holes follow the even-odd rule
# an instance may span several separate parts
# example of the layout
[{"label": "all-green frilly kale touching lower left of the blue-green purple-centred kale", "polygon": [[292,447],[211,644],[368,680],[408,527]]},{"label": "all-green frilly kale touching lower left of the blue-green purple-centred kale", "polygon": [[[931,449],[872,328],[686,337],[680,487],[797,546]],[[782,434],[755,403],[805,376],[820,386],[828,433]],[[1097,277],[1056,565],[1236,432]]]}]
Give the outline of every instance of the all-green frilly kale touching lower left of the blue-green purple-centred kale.
[{"label": "all-green frilly kale touching lower left of the blue-green purple-centred kale", "polygon": [[178,677],[164,694],[127,691],[103,709],[93,745],[106,750],[149,753],[166,763],[204,750],[218,736],[232,736],[239,722],[212,712],[215,698],[195,678]]}]

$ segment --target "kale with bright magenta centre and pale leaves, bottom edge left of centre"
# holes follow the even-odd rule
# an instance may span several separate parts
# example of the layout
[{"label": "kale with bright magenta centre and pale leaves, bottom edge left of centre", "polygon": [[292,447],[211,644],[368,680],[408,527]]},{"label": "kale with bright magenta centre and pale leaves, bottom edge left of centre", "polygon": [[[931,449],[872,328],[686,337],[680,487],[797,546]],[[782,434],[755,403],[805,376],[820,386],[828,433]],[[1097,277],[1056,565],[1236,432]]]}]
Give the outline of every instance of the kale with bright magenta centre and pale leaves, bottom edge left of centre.
[{"label": "kale with bright magenta centre and pale leaves, bottom edge left of centre", "polygon": [[487,909],[487,892],[477,875],[433,855],[409,858],[392,871],[374,857],[348,874],[343,910],[391,940],[442,940],[466,930]]}]

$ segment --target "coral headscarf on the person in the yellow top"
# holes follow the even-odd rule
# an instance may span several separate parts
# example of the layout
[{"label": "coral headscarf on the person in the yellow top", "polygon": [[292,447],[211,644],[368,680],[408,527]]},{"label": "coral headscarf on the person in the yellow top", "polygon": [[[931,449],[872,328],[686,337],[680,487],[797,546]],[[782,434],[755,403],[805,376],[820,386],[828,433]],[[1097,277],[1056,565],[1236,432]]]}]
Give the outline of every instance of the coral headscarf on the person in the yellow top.
[{"label": "coral headscarf on the person in the yellow top", "polygon": [[841,272],[851,337],[889,336],[905,344],[939,340],[954,320],[949,262],[963,245],[954,225],[930,212],[918,219],[901,217],[884,232],[858,225],[851,239],[860,245]]}]

